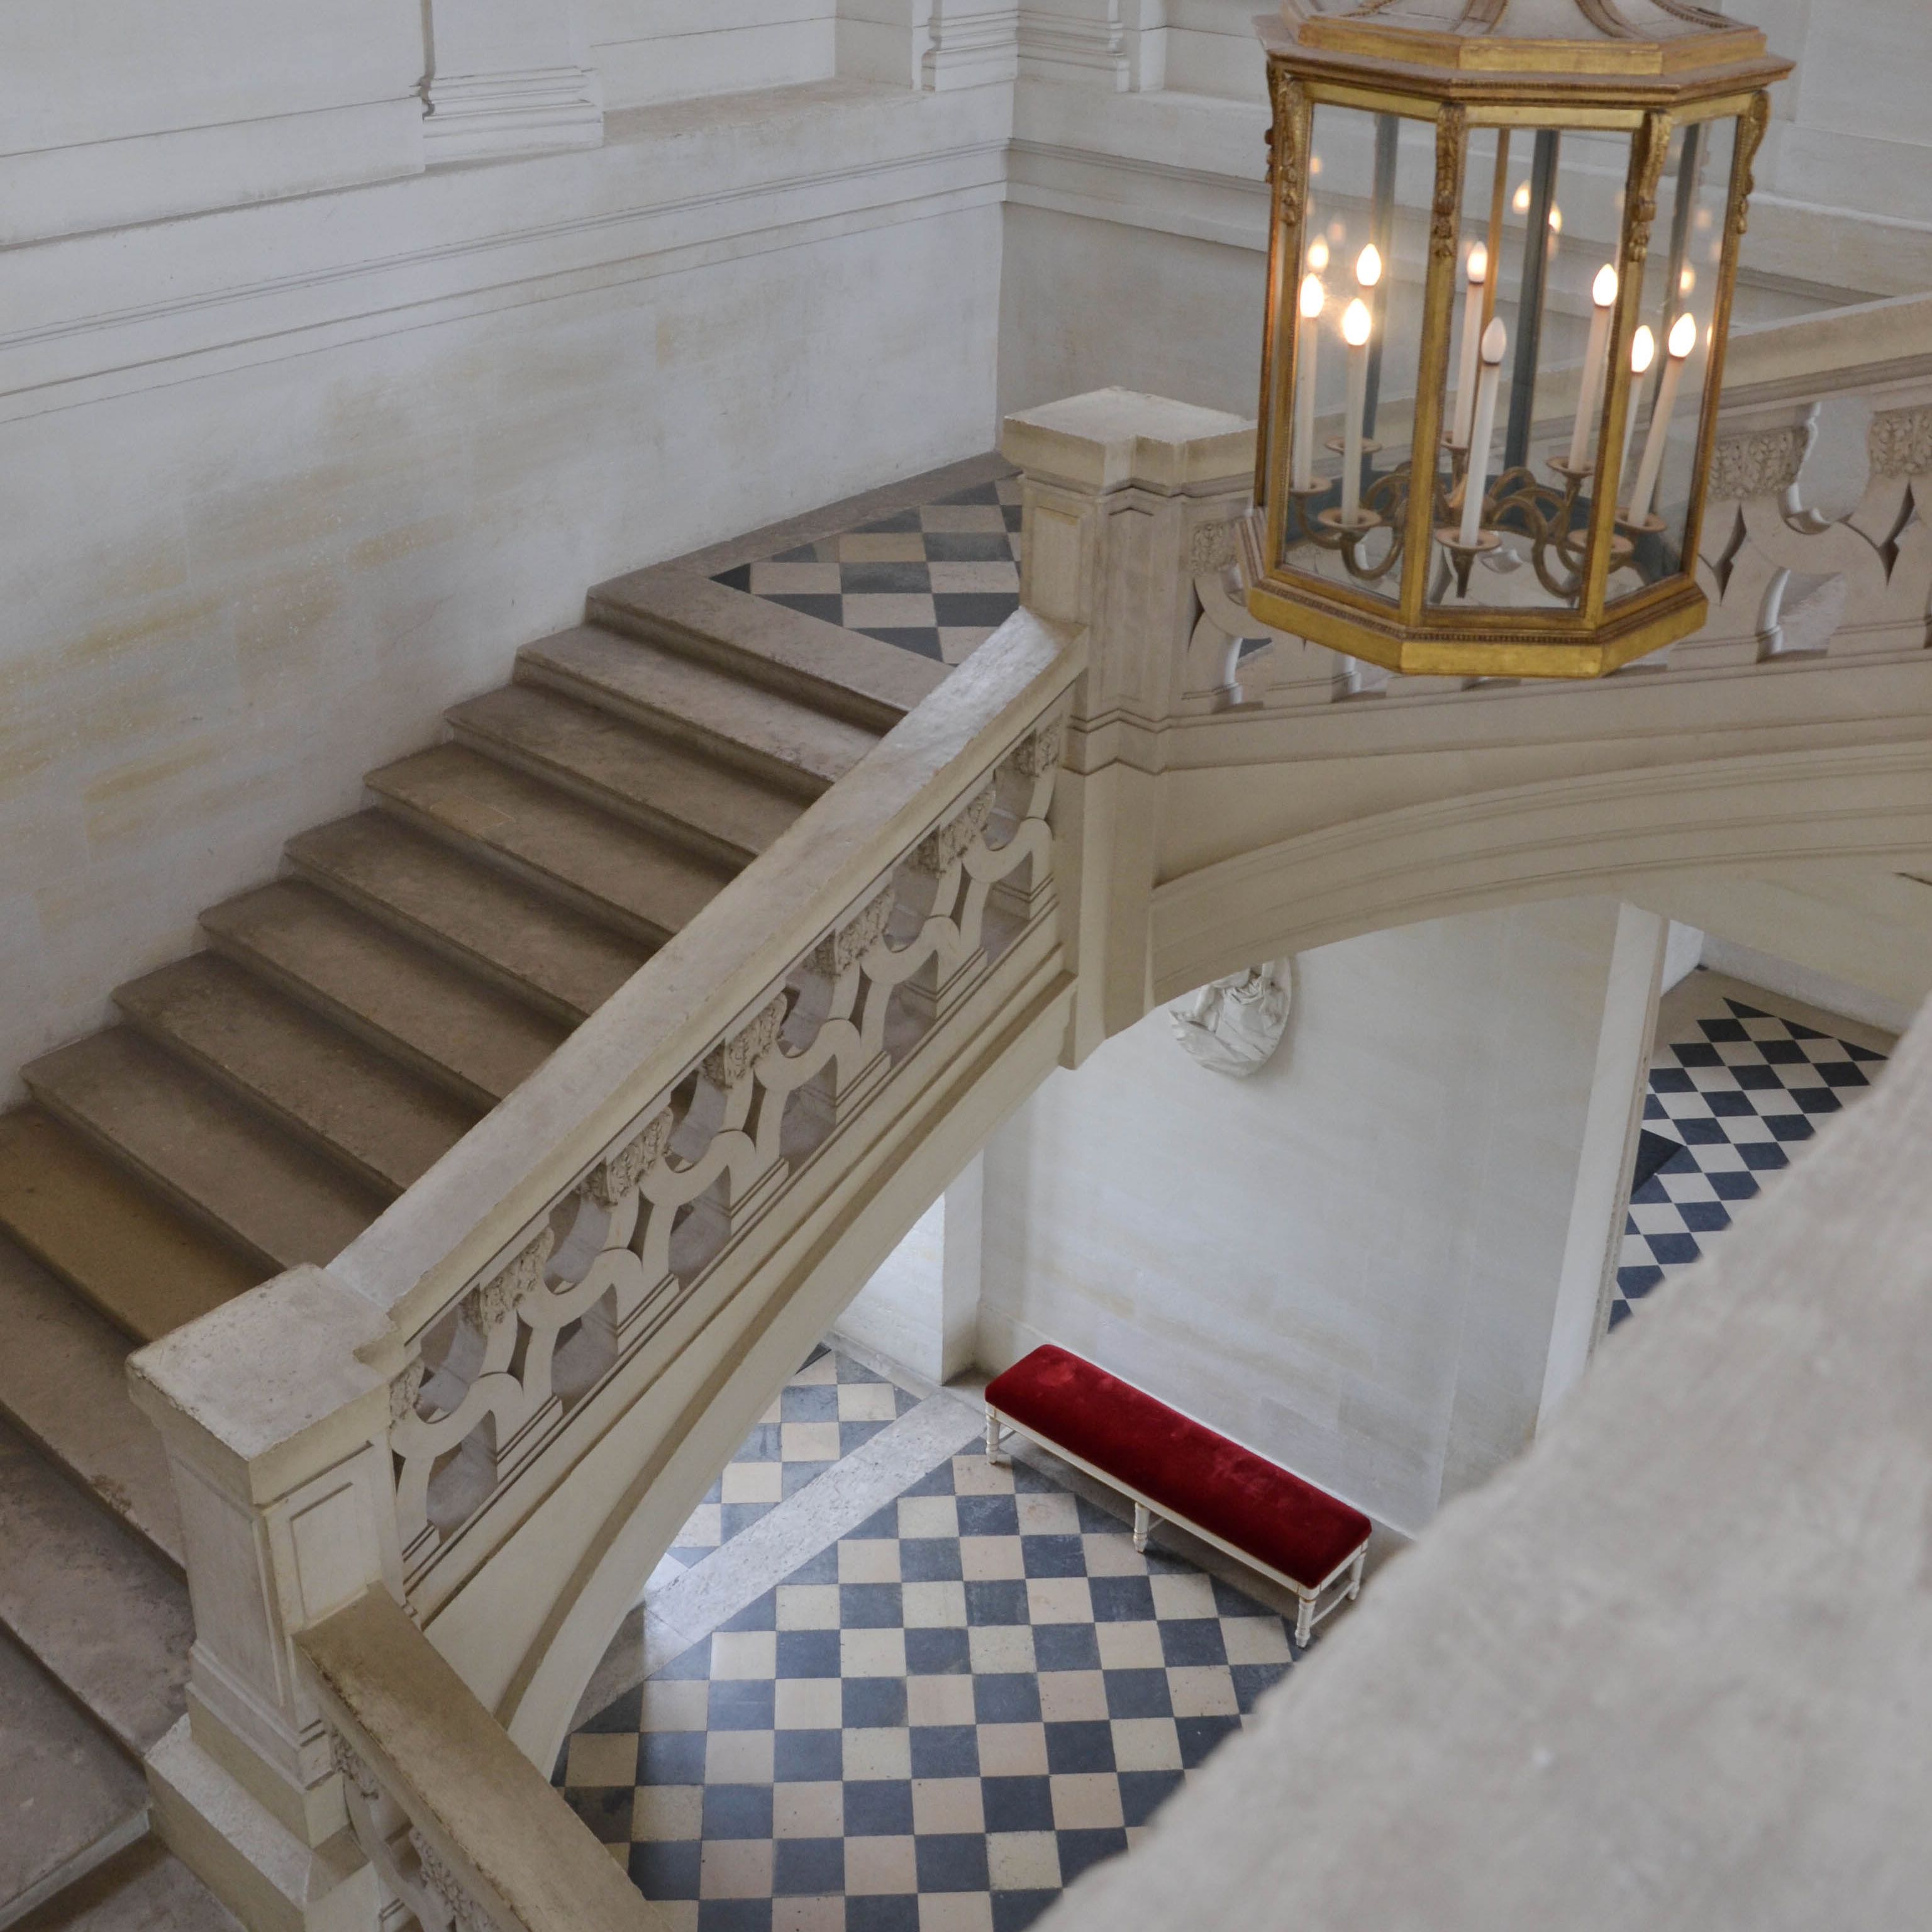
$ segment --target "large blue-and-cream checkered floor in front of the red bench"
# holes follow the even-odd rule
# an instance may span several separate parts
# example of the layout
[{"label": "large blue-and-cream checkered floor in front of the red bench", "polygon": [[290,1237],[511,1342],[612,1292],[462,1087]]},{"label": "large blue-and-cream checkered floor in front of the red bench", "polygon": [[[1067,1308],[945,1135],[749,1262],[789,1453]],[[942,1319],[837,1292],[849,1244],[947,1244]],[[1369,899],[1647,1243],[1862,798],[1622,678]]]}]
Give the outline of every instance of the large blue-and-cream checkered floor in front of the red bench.
[{"label": "large blue-and-cream checkered floor in front of the red bench", "polygon": [[1293,1660],[1273,1611],[958,1455],[616,1698],[558,1783],[676,1932],[1018,1932]]}]

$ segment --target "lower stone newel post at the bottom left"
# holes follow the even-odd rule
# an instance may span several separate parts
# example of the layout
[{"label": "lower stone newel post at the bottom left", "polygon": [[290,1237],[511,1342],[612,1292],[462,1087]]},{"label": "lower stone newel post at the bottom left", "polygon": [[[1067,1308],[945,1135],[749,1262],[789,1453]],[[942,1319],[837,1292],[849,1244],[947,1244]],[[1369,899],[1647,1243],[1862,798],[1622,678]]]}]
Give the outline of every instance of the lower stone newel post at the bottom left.
[{"label": "lower stone newel post at the bottom left", "polygon": [[149,1752],[149,1787],[168,1845],[255,1928],[375,1932],[294,1636],[373,1584],[402,1596],[402,1352],[381,1308],[296,1267],[129,1362],[168,1447],[195,1611],[187,1716]]}]

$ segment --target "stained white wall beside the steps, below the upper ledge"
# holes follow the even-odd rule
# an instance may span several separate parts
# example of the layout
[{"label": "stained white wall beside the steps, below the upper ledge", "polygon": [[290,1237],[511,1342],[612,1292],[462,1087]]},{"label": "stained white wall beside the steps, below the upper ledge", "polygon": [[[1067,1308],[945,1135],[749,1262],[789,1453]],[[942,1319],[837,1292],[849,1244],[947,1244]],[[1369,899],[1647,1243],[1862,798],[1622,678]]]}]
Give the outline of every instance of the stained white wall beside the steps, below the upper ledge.
[{"label": "stained white wall beside the steps, below the upper ledge", "polygon": [[[624,166],[676,189],[674,145],[301,205],[301,247],[350,267],[292,274],[269,317],[228,294],[158,340],[0,338],[0,1074],[100,1024],[116,983],[187,951],[203,906],[354,810],[365,769],[429,742],[597,580],[991,444],[997,180],[952,102],[906,97],[896,162],[864,91],[782,139],[769,112],[699,118],[752,160],[790,141],[779,185],[723,201],[750,232],[686,211],[632,240],[620,207],[595,272],[572,216]],[[410,209],[444,245],[375,269],[346,319]],[[71,323],[168,274],[309,263],[269,214],[207,259],[185,224],[25,267]],[[516,253],[539,243],[502,230],[539,216],[549,253]],[[214,334],[187,354],[189,328]]]}]

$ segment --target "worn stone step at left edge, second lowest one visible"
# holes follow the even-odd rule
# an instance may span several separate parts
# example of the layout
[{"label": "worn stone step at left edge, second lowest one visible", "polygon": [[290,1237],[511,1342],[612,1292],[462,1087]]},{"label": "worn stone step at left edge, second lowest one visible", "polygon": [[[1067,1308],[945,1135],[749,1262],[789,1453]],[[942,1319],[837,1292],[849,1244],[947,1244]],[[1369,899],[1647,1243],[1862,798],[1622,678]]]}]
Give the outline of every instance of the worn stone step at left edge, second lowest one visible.
[{"label": "worn stone step at left edge, second lowest one visible", "polygon": [[0,1631],[0,1926],[147,1832],[147,1781]]}]

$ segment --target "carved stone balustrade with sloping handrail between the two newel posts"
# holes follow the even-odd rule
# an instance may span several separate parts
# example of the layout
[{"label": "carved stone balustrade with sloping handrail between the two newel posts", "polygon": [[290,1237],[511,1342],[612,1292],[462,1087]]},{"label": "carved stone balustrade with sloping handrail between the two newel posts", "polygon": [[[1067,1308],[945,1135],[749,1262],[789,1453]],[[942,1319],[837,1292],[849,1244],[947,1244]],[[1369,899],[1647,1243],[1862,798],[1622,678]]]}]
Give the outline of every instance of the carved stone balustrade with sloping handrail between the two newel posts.
[{"label": "carved stone balustrade with sloping handrail between the two newel posts", "polygon": [[[682,1028],[626,1026],[649,1051],[622,1082],[616,1132],[595,1109],[553,1128],[529,1165],[520,1117],[537,1111],[553,1068],[475,1130],[448,1165],[491,1231],[489,1260],[468,1260],[485,1242],[450,1227],[437,1177],[342,1256],[350,1281],[371,1256],[383,1265],[410,1350],[390,1447],[412,1592],[481,1511],[502,1511],[574,1410],[680,1316],[978,974],[1051,912],[1045,813],[1076,668],[1034,618],[1014,618],[900,726],[925,744],[956,721],[980,728],[885,815],[883,833],[867,835],[879,794],[923,763],[902,746],[885,752],[883,773],[862,767],[835,786],[813,808],[819,825],[802,821],[798,844],[838,856],[829,879],[781,840],[717,902],[726,933],[703,931],[699,916],[659,954],[653,968],[670,980],[709,960],[694,983],[717,993]],[[726,964],[740,964],[734,980]],[[651,978],[647,968],[639,987]],[[578,1039],[558,1049],[553,1084],[568,1082],[572,1059],[603,1051],[595,1034]],[[512,1184],[491,1182],[493,1157],[522,1169]],[[413,1260],[398,1265],[439,1242],[446,1254],[421,1273]]]}]

